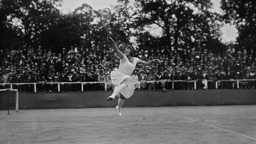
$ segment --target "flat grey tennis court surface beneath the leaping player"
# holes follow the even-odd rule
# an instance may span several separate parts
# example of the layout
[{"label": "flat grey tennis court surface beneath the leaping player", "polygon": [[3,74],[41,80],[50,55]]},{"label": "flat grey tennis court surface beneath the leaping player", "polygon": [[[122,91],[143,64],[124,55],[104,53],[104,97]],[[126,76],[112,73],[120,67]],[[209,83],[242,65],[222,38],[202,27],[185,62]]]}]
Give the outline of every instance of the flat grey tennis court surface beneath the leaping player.
[{"label": "flat grey tennis court surface beneath the leaping player", "polygon": [[0,143],[256,143],[256,105],[0,111]]}]

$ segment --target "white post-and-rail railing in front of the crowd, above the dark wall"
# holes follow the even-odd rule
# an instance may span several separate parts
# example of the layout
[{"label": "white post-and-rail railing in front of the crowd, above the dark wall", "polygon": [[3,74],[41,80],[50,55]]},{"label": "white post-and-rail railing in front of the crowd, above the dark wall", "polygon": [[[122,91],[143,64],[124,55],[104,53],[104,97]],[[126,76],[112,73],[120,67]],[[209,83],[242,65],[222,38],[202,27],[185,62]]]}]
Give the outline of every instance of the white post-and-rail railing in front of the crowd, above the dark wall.
[{"label": "white post-and-rail railing in front of the crowd, above the dark wall", "polygon": [[[213,80],[207,80],[207,82],[215,82],[215,88],[218,89],[219,84],[223,83],[223,82],[233,82],[236,84],[236,88],[239,89],[239,83],[241,82],[247,82],[247,81],[255,81],[256,83],[256,79],[233,79],[233,80],[217,80],[217,81],[213,81]],[[193,83],[194,89],[197,89],[197,82],[199,81],[183,81],[183,80],[160,80],[160,81],[139,81],[140,84],[141,83],[152,83],[152,82],[171,82],[171,88],[174,89],[175,86],[175,82],[180,82],[181,85],[183,85],[184,82],[190,82]],[[57,84],[57,91],[60,91],[60,85],[64,85],[64,84],[80,84],[81,85],[81,91],[84,91],[84,85],[86,84],[104,84],[104,89],[105,91],[107,91],[107,84],[111,84],[111,82],[30,82],[30,83],[2,83],[0,85],[5,86],[5,85],[10,85],[10,89],[13,89],[13,85],[34,85],[34,92],[37,92],[37,85],[40,84]],[[256,86],[256,85],[255,85]],[[256,87],[255,87],[256,88]],[[223,84],[222,84],[222,89],[223,89]]]}]

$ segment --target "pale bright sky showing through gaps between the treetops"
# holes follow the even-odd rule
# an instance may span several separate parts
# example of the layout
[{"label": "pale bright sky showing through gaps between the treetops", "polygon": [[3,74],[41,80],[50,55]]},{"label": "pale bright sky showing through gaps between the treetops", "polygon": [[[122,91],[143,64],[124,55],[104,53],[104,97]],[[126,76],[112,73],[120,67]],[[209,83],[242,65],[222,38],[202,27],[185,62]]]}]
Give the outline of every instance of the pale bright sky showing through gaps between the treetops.
[{"label": "pale bright sky showing through gaps between the treetops", "polygon": [[[1,1],[1,0],[0,0]],[[93,9],[103,9],[103,8],[110,8],[110,5],[115,5],[117,0],[63,0],[63,6],[60,8],[60,10],[63,13],[71,12],[75,8],[80,7],[82,4],[86,3],[90,5]],[[221,14],[220,9],[220,0],[212,0],[213,2],[213,9],[214,11]],[[152,31],[153,33],[159,33],[156,28],[155,31]],[[227,41],[235,41],[236,37],[238,36],[238,30],[236,30],[234,25],[226,24],[222,28],[222,39],[223,42]]]}]

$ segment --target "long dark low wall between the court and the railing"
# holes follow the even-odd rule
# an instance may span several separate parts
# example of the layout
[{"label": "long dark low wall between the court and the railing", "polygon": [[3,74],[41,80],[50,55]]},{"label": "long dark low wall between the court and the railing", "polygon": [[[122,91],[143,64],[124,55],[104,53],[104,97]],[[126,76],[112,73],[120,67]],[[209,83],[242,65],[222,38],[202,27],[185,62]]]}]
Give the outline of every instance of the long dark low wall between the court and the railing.
[{"label": "long dark low wall between the court and the railing", "polygon": [[[111,91],[56,92],[19,94],[20,109],[114,107],[117,98],[108,102]],[[1,95],[2,96],[2,95]],[[13,100],[12,100],[13,101]],[[7,98],[0,97],[0,105]],[[214,89],[180,91],[135,91],[124,107],[176,106],[176,105],[244,105],[256,104],[256,90]],[[1,107],[2,108],[2,107]]]}]

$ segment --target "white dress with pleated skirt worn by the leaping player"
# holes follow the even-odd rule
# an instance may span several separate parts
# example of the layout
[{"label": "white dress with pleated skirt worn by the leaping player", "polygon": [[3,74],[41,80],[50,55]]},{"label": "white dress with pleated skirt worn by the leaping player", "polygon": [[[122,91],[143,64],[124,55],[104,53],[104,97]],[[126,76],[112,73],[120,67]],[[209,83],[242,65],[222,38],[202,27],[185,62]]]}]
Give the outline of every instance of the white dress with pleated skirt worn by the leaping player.
[{"label": "white dress with pleated skirt worn by the leaping player", "polygon": [[125,98],[130,98],[135,91],[135,84],[131,75],[138,62],[139,59],[137,57],[133,57],[133,63],[131,63],[126,55],[124,55],[123,59],[120,59],[118,71],[112,71],[110,73],[112,84],[115,85],[115,87],[122,84],[124,81],[128,82],[128,87],[121,91],[121,94]]}]

